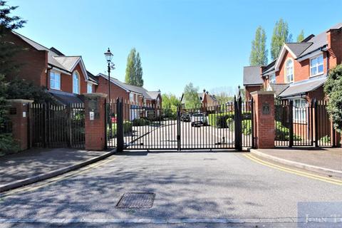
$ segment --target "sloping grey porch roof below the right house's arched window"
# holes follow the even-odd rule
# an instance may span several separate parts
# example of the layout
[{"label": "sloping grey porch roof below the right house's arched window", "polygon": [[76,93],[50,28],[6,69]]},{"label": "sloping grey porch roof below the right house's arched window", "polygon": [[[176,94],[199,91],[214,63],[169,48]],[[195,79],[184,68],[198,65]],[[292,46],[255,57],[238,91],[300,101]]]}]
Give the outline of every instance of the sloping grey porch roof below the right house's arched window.
[{"label": "sloping grey porch roof below the right house's arched window", "polygon": [[292,83],[288,88],[286,88],[286,90],[280,93],[279,96],[284,98],[293,95],[304,94],[309,91],[316,90],[316,88],[323,86],[325,82],[326,75],[315,78],[309,78],[307,80],[299,81],[297,83]]}]

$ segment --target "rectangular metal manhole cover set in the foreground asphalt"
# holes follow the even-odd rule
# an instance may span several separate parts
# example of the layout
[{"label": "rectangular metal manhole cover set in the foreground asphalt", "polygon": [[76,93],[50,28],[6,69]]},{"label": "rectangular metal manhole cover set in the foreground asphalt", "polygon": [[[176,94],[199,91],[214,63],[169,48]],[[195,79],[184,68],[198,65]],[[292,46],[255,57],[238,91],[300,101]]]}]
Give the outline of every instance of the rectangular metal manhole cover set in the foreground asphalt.
[{"label": "rectangular metal manhole cover set in the foreground asphalt", "polygon": [[151,192],[128,192],[119,200],[118,208],[151,208],[155,200],[155,193]]}]

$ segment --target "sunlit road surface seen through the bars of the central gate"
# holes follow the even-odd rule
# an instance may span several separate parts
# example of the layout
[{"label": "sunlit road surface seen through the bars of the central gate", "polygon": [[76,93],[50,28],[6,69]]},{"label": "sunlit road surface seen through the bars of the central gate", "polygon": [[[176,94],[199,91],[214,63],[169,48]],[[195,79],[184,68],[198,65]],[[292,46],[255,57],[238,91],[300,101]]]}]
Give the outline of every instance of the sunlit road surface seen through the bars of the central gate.
[{"label": "sunlit road surface seen through the bars of the central gate", "polygon": [[[133,137],[127,138],[130,149],[177,149],[176,120],[167,120],[160,127],[134,127]],[[148,133],[148,134],[146,134]],[[234,130],[214,128],[212,126],[192,127],[190,122],[180,124],[180,142],[182,149],[220,149],[234,148]],[[244,145],[252,145],[252,135],[242,137]]]}]

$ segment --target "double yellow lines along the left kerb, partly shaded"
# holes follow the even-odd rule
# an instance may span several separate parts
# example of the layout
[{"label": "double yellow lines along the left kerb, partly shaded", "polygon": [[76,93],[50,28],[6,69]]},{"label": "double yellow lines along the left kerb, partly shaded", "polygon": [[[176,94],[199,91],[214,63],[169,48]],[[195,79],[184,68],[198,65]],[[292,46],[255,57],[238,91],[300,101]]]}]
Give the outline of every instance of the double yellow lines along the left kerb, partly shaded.
[{"label": "double yellow lines along the left kerb, partly shaded", "polygon": [[20,187],[17,188],[15,190],[10,190],[9,192],[5,192],[4,194],[0,193],[0,197],[2,199],[4,199],[4,197],[8,197],[9,195],[14,195],[15,193],[18,192],[32,192],[34,190],[38,190],[41,187],[46,187],[48,185],[52,185],[55,184],[56,182],[60,182],[61,180],[68,180],[71,177],[76,177],[76,175],[80,175],[84,172],[88,172],[90,170],[92,170],[95,167],[99,167],[101,165],[105,165],[108,162],[111,162],[115,159],[115,157],[110,157],[109,159],[103,160],[103,161],[99,161],[99,162],[95,162],[91,165],[87,165],[86,167],[82,167],[80,170],[73,170],[71,172],[66,172],[65,174],[62,175],[58,175],[57,177],[52,177],[51,179],[48,180],[43,180],[40,184],[38,183],[37,186],[32,187],[31,185],[37,184],[37,183],[33,183],[31,185],[27,185],[24,187]]}]

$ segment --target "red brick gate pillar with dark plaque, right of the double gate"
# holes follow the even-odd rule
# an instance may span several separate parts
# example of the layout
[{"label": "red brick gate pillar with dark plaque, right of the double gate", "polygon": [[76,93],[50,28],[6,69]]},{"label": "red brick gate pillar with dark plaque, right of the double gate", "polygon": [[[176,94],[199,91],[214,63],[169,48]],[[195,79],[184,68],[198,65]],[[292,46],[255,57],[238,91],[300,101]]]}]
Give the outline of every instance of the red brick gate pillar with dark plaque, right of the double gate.
[{"label": "red brick gate pillar with dark plaque, right of the double gate", "polygon": [[274,148],[274,92],[255,91],[251,93],[254,105],[254,138],[259,149]]}]

